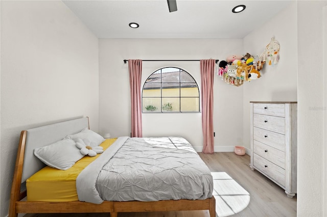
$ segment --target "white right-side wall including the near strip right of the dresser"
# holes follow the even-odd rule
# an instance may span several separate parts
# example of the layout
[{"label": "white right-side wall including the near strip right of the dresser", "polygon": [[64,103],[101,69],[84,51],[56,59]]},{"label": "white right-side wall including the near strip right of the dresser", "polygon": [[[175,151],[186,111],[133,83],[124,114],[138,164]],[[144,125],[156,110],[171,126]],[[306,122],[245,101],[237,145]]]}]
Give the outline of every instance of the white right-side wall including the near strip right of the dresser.
[{"label": "white right-side wall including the near strip right of the dresser", "polygon": [[323,181],[327,170],[323,154],[325,5],[326,1],[293,2],[244,38],[244,52],[250,53],[258,53],[258,45],[264,48],[272,36],[281,44],[279,63],[265,67],[260,80],[244,85],[244,145],[249,146],[249,101],[298,101],[298,216],[326,216],[327,209]]}]

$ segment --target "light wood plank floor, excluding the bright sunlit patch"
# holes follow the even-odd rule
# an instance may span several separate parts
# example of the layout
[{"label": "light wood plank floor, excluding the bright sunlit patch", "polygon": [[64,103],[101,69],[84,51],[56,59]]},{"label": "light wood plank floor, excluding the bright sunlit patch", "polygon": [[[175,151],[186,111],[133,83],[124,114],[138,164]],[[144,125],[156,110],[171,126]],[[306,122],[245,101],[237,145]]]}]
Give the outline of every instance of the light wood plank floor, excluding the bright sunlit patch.
[{"label": "light wood plank floor, excluding the bright sunlit patch", "polygon": [[[250,203],[233,216],[296,216],[296,196],[291,199],[284,190],[258,171],[249,167],[250,156],[233,152],[199,153],[212,172],[226,172],[250,193]],[[109,213],[26,214],[26,217],[109,217]],[[118,213],[118,217],[208,217],[208,211]]]}]

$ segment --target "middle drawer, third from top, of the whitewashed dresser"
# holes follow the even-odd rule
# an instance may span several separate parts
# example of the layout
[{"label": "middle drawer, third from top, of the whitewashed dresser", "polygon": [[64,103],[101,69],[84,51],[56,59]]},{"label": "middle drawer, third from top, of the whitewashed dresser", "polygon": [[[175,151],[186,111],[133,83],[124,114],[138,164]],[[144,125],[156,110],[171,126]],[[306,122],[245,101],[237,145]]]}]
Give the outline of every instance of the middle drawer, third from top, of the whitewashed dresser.
[{"label": "middle drawer, third from top, of the whitewashed dresser", "polygon": [[253,140],[262,142],[285,152],[285,135],[272,132],[266,129],[253,127]]}]

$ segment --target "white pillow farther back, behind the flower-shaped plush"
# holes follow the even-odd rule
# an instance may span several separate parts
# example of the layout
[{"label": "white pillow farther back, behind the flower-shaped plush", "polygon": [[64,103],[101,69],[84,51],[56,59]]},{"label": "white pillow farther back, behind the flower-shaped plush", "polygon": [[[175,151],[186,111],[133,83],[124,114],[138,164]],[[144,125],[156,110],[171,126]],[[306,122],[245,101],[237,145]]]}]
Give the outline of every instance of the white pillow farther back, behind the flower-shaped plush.
[{"label": "white pillow farther back, behind the flower-shaped plush", "polygon": [[84,128],[82,131],[73,134],[67,135],[66,138],[72,139],[76,142],[77,139],[82,139],[86,146],[96,147],[99,146],[105,139],[98,133]]}]

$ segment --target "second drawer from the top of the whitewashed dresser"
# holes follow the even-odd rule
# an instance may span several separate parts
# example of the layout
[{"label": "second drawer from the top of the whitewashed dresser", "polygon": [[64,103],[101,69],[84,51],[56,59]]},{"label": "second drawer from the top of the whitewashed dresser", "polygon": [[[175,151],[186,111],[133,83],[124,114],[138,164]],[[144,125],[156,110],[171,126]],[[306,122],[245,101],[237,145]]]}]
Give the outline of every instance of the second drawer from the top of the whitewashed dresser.
[{"label": "second drawer from the top of the whitewashed dresser", "polygon": [[253,114],[253,126],[285,134],[285,118]]}]

